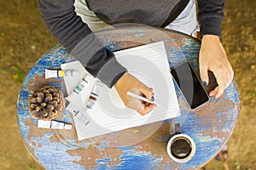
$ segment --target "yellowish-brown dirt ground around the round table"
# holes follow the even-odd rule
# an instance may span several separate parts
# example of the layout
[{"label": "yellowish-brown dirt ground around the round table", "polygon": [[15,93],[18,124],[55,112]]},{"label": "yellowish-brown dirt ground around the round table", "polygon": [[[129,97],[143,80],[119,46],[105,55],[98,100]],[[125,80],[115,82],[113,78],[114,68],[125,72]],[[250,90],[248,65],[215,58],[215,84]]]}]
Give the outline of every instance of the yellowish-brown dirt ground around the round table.
[{"label": "yellowish-brown dirt ground around the round table", "polygon": [[[223,44],[235,71],[241,111],[229,140],[230,169],[256,169],[256,1],[226,1]],[[15,68],[29,71],[33,63],[57,44],[40,19],[36,0],[0,2],[0,169],[44,169],[20,138],[16,100],[20,82]],[[206,169],[224,169],[212,160]]]}]

